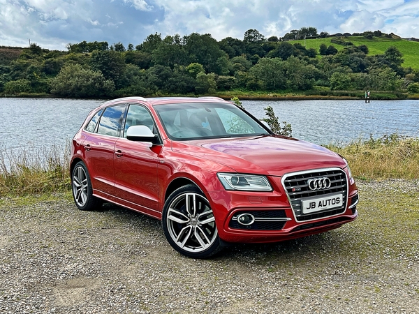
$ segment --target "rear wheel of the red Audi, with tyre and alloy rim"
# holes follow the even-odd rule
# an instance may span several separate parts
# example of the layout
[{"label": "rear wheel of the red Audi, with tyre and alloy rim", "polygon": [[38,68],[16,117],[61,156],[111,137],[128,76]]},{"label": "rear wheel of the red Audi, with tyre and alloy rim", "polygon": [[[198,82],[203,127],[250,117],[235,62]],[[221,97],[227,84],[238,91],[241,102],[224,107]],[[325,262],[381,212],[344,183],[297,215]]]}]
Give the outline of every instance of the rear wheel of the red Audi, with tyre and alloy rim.
[{"label": "rear wheel of the red Audi, with tyre and alloy rim", "polygon": [[71,190],[75,205],[81,211],[91,211],[102,204],[102,200],[93,195],[89,171],[82,161],[75,164],[71,174]]}]

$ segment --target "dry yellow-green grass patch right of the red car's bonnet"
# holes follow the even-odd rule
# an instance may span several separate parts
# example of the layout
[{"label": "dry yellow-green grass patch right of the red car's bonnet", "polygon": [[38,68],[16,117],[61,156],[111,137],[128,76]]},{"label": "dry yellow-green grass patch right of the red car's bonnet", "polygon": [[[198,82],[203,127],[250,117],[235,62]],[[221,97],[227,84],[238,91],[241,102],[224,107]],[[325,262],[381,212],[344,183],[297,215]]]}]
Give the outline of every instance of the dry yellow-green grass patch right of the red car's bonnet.
[{"label": "dry yellow-green grass patch right of the red car's bonnet", "polygon": [[419,179],[419,139],[397,134],[328,149],[344,156],[359,179]]}]

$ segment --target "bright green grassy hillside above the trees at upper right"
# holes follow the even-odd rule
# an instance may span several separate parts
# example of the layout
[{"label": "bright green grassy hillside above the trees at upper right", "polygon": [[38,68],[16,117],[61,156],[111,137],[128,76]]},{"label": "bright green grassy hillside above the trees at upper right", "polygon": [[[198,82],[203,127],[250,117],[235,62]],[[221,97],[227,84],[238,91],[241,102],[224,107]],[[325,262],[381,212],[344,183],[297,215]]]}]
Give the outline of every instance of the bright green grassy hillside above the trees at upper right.
[{"label": "bright green grassy hillside above the trees at upper right", "polygon": [[[337,50],[344,49],[343,45],[331,43],[330,40],[332,40],[332,38],[333,37],[307,39],[305,40],[305,45],[307,49],[314,48],[317,51],[323,43],[328,46],[333,45]],[[383,54],[388,47],[395,46],[403,54],[403,67],[419,69],[419,42],[417,41],[410,41],[402,38],[373,37],[372,39],[367,39],[364,36],[353,36],[342,39],[344,41],[351,41],[355,46],[366,45],[369,50],[369,55]],[[293,43],[300,43],[301,45],[304,45],[304,40],[295,40]]]}]

